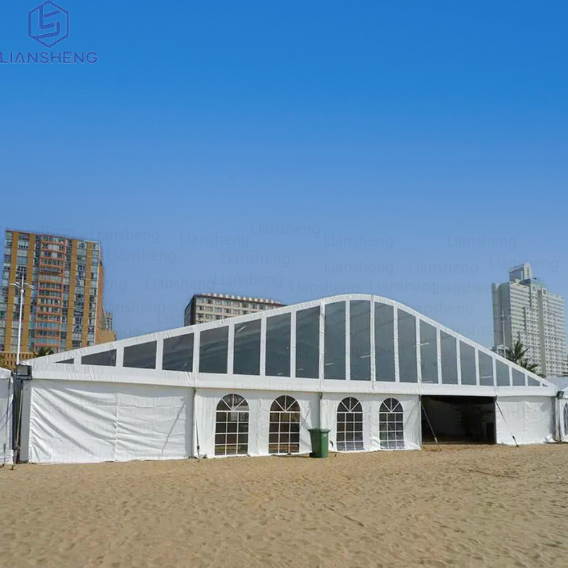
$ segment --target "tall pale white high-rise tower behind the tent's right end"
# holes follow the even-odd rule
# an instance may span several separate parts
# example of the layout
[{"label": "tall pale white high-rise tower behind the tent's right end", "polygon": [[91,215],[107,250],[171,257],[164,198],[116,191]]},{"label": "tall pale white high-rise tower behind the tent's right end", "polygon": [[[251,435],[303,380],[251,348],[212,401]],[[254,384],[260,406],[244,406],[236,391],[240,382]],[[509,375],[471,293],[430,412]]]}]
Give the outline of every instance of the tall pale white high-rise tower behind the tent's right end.
[{"label": "tall pale white high-rise tower behind the tent's right end", "polygon": [[508,282],[493,284],[493,350],[501,353],[517,340],[537,373],[566,372],[564,298],[534,278],[529,263],[510,268]]}]

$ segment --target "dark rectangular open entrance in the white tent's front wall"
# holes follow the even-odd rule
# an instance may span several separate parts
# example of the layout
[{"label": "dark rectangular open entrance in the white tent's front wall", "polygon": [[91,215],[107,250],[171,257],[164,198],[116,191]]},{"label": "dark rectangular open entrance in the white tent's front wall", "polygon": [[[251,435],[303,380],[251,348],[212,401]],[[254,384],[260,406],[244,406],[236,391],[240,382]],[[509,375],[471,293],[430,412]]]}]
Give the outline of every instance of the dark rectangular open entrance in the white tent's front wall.
[{"label": "dark rectangular open entrance in the white tent's front wall", "polygon": [[423,444],[435,442],[432,430],[439,443],[495,444],[495,400],[481,396],[422,396]]}]

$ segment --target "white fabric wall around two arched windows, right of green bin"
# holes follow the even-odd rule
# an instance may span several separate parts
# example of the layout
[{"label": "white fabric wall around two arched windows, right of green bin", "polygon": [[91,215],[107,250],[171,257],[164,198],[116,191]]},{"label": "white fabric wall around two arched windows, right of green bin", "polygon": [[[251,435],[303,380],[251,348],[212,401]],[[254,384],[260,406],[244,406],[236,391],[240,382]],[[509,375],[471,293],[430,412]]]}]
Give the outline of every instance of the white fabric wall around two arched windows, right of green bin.
[{"label": "white fabric wall around two arched windows, right of green bin", "polygon": [[363,442],[367,452],[381,448],[379,439],[379,410],[384,400],[395,398],[403,406],[404,448],[420,449],[420,397],[418,395],[324,393],[322,398],[322,427],[329,428],[330,448],[337,448],[337,409],[344,398],[354,397],[363,408]]}]

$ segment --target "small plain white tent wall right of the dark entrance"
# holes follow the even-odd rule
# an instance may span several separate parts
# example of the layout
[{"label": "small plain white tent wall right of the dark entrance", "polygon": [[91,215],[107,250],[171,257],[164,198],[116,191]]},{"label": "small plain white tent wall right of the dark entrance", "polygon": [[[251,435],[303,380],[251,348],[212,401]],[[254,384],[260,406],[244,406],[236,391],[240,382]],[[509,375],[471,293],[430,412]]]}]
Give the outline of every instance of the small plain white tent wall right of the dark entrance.
[{"label": "small plain white tent wall right of the dark entrance", "polygon": [[[498,398],[495,409],[498,444],[542,444],[555,439],[555,399],[542,396]],[[501,411],[499,410],[501,409]]]}]

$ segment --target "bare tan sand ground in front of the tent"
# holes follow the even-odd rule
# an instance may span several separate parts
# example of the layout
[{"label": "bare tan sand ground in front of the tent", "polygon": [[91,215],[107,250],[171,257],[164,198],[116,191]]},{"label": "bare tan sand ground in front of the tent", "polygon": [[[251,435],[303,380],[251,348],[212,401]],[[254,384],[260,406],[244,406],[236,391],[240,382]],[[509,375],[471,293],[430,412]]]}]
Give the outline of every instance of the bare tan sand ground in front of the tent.
[{"label": "bare tan sand ground in front of the tent", "polygon": [[568,444],[0,470],[6,567],[566,567]]}]

